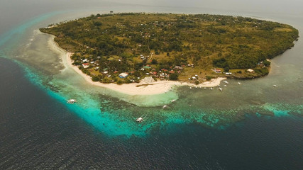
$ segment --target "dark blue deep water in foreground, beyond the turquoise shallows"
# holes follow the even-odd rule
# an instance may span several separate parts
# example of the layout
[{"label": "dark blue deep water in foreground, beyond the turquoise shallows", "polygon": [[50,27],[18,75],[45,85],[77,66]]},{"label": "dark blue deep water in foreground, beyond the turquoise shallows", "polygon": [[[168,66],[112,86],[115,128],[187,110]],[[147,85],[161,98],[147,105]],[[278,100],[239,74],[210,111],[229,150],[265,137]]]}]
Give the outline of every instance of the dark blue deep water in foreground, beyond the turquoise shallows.
[{"label": "dark blue deep water in foreground, beyond the turquoise shallows", "polygon": [[148,137],[112,138],[33,85],[18,65],[0,63],[1,169],[302,167],[302,117],[246,115],[224,130],[168,123]]}]

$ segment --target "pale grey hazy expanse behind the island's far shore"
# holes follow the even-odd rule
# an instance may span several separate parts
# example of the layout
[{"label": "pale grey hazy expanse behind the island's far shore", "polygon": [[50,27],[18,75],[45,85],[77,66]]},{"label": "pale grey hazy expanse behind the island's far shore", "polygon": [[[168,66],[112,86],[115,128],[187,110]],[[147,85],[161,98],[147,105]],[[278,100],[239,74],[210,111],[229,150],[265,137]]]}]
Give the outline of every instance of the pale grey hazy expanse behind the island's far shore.
[{"label": "pale grey hazy expanse behind the island's far shore", "polygon": [[[221,11],[230,11],[233,13],[260,13],[258,16],[264,16],[264,13],[281,15],[303,16],[303,0],[0,0],[0,34],[13,28],[18,23],[23,23],[26,18],[33,18],[43,13],[51,11],[77,10],[79,8],[101,7],[112,10],[112,6],[120,6],[119,10],[130,12],[136,8],[137,11],[144,10],[140,6],[123,6],[123,4],[144,5],[145,8],[153,6],[175,7],[175,11],[190,13],[193,8],[194,13],[220,13]],[[205,10],[207,9],[207,10]],[[158,12],[161,12],[159,8]],[[169,10],[168,10],[169,11]],[[105,11],[104,11],[105,12]],[[172,10],[172,12],[174,12]],[[266,15],[269,16],[269,15]]]}]

